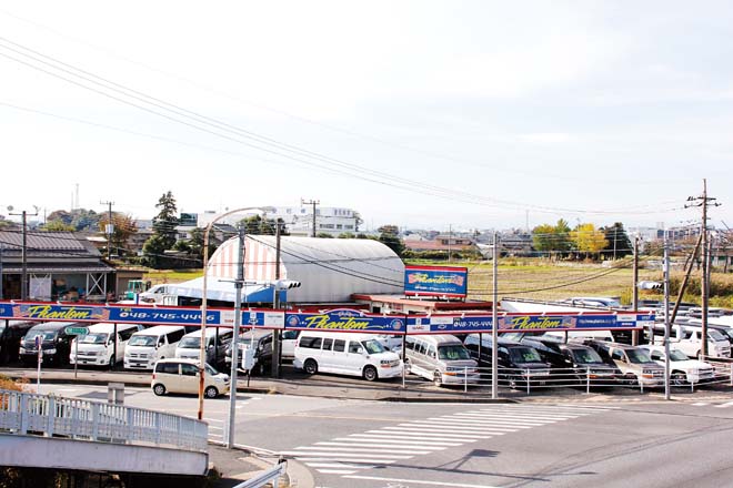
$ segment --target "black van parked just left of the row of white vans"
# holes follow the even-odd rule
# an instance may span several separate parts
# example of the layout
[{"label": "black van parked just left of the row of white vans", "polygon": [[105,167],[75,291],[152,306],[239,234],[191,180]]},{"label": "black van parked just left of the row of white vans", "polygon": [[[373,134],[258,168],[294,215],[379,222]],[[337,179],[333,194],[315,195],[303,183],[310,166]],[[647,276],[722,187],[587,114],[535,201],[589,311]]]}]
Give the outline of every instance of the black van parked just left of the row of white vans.
[{"label": "black van parked just left of the row of white vans", "polygon": [[27,365],[38,363],[37,342],[41,343],[43,352],[43,363],[61,366],[69,363],[69,353],[71,352],[71,340],[74,336],[66,333],[69,326],[84,326],[84,324],[70,322],[49,322],[38,324],[31,327],[23,339],[20,342],[20,360]]}]

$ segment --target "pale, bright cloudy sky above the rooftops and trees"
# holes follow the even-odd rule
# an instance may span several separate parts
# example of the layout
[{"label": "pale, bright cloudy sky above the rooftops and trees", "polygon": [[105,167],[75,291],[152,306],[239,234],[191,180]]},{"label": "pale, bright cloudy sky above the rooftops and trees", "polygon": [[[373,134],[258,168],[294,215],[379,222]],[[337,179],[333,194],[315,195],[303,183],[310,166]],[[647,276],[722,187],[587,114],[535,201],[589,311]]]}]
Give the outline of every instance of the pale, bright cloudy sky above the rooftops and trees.
[{"label": "pale, bright cloudy sky above the rooftops and trees", "polygon": [[[726,1],[7,1],[0,214],[733,225]],[[77,186],[78,185],[78,186]],[[694,203],[694,202],[693,202]]]}]

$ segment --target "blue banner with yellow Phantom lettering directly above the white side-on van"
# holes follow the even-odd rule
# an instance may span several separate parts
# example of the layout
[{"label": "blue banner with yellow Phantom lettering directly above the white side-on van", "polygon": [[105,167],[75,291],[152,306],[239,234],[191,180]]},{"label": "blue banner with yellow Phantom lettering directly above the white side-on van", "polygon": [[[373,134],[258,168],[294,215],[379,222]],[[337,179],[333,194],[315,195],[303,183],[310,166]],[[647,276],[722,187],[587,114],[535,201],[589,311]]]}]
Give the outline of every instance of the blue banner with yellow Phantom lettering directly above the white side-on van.
[{"label": "blue banner with yellow Phantom lettering directly above the white side-on van", "polygon": [[328,311],[321,314],[288,313],[285,314],[285,328],[404,334],[405,317],[402,315],[365,314],[351,308]]}]

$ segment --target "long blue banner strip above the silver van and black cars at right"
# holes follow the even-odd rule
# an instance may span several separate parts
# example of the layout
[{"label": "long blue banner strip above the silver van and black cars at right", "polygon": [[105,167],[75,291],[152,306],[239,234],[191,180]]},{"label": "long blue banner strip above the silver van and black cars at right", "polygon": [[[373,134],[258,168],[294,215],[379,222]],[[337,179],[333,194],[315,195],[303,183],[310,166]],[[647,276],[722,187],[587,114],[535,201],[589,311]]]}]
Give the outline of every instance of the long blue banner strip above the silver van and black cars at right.
[{"label": "long blue banner strip above the silver van and black cars at right", "polygon": [[[432,315],[408,317],[408,334],[484,333],[492,329],[491,315]],[[650,314],[594,314],[594,315],[500,315],[500,332],[542,332],[578,329],[643,328],[654,322]]]}]

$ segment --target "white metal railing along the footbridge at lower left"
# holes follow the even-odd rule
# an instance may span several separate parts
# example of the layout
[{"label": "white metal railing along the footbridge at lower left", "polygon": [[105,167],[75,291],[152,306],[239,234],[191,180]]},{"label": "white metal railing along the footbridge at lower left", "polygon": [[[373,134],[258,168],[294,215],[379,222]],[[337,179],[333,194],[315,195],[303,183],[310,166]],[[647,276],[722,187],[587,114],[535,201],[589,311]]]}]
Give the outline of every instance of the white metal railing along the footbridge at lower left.
[{"label": "white metal railing along the footbridge at lower left", "polygon": [[209,427],[142,408],[0,389],[0,431],[207,451]]}]

